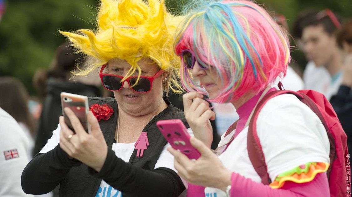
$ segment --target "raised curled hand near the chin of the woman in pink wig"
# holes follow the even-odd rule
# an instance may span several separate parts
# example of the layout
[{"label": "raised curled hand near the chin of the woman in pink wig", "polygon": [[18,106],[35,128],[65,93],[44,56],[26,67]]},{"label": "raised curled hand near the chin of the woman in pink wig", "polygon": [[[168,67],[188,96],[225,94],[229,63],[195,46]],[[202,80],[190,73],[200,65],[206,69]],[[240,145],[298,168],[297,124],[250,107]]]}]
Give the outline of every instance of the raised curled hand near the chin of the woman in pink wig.
[{"label": "raised curled hand near the chin of the woman in pink wig", "polygon": [[204,96],[197,92],[183,95],[184,116],[194,136],[210,148],[213,142],[213,128],[209,120],[215,120],[215,113]]}]

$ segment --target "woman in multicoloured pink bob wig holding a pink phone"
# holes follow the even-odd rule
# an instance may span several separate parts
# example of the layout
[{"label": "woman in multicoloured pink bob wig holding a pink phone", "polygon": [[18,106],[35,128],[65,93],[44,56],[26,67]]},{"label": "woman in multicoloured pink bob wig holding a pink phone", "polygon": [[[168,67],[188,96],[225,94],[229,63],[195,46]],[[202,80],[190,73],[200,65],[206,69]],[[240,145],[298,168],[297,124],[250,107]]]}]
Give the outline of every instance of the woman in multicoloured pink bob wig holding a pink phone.
[{"label": "woman in multicoloured pink bob wig holding a pink phone", "polygon": [[[296,96],[271,98],[256,120],[257,135],[271,183],[265,185],[247,150],[249,120],[260,99],[285,75],[290,62],[288,33],[251,1],[204,2],[190,11],[176,35],[182,59],[181,82],[193,147],[190,160],[171,147],[175,168],[188,196],[330,196],[327,169],[330,144],[319,117]],[[218,149],[210,150],[215,114],[211,102],[232,103],[239,114]]]}]

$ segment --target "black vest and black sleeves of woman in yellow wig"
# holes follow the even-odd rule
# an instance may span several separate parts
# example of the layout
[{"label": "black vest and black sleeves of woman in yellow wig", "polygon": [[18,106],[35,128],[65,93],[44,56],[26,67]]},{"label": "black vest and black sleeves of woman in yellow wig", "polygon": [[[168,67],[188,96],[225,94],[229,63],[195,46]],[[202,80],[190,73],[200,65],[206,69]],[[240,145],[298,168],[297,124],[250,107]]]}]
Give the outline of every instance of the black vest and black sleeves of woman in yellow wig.
[{"label": "black vest and black sleeves of woman in yellow wig", "polygon": [[154,166],[166,145],[166,140],[156,127],[156,121],[181,119],[188,124],[181,110],[169,105],[155,116],[143,129],[147,132],[149,147],[142,158],[136,157],[134,150],[126,163],[116,157],[111,150],[117,122],[117,103],[114,98],[90,98],[89,104],[110,104],[114,114],[109,120],[99,122],[107,145],[107,158],[99,173],[68,155],[57,145],[47,153],[37,154],[22,173],[21,184],[24,192],[39,195],[50,192],[60,184],[60,196],[95,196],[101,180],[128,196],[178,196],[184,190],[176,172],[168,168]]}]

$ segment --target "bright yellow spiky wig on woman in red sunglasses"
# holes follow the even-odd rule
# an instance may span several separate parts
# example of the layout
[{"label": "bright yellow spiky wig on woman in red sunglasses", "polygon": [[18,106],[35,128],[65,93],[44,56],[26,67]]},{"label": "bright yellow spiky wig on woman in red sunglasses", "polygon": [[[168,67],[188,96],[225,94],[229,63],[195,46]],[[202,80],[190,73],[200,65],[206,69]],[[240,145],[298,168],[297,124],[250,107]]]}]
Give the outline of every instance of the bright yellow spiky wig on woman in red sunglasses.
[{"label": "bright yellow spiky wig on woman in red sunglasses", "polygon": [[131,64],[126,77],[141,70],[137,62],[152,59],[168,73],[164,89],[180,93],[178,83],[180,57],[174,53],[174,33],[182,17],[166,11],[164,0],[101,0],[96,31],[81,29],[63,32],[77,52],[88,55],[86,67],[75,72],[87,75],[111,59],[124,59]]}]

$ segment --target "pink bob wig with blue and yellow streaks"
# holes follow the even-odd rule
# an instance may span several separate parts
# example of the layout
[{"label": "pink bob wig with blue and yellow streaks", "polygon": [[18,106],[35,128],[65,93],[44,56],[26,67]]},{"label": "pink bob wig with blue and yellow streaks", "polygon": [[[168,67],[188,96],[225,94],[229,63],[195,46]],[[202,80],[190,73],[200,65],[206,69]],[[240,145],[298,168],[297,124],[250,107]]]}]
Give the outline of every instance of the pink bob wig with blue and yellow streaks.
[{"label": "pink bob wig with blue and yellow streaks", "polygon": [[[207,1],[193,9],[176,33],[175,52],[184,50],[219,75],[223,89],[211,100],[218,103],[257,94],[285,76],[290,62],[286,30],[251,1]],[[184,89],[206,94],[185,65],[180,74]]]}]

